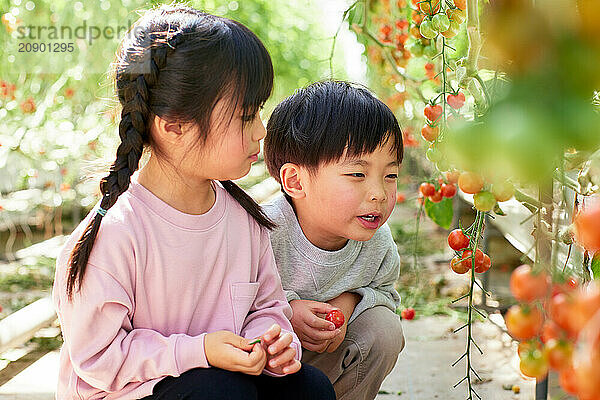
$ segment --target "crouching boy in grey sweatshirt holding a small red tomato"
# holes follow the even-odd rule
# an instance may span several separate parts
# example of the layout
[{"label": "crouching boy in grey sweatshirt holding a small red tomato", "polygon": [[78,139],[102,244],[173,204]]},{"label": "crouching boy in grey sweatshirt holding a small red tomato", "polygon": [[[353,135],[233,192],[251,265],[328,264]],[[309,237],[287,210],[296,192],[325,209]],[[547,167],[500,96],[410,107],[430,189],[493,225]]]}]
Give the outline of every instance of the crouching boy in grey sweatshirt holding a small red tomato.
[{"label": "crouching boy in grey sweatshirt holding a small red tomato", "polygon": [[[283,192],[264,210],[277,224],[271,244],[302,362],[338,399],[374,399],[404,347],[400,258],[385,224],[403,154],[398,122],[367,90],[319,82],[277,106],[264,154]],[[339,329],[324,319],[334,309]]]}]

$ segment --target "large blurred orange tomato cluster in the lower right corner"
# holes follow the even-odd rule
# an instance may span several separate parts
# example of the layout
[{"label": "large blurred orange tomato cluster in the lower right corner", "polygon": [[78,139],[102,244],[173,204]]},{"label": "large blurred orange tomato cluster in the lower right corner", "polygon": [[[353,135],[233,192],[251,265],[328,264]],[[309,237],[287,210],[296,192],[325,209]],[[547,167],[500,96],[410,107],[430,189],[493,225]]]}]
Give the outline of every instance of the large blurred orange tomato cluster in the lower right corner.
[{"label": "large blurred orange tomato cluster in the lower right corner", "polygon": [[520,303],[504,319],[520,341],[521,372],[543,379],[554,369],[565,392],[600,398],[600,284],[579,285],[572,277],[552,283],[543,270],[521,265],[510,289]]}]

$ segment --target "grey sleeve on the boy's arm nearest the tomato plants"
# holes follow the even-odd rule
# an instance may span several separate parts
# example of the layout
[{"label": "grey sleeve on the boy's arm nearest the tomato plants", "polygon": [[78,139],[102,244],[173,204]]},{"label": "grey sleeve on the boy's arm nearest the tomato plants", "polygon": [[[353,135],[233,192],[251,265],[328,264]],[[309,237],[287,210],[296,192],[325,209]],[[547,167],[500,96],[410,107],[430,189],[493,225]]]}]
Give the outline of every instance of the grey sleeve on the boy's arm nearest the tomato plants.
[{"label": "grey sleeve on the boy's arm nearest the tomato plants", "polygon": [[348,323],[351,323],[363,311],[375,306],[386,306],[393,312],[400,305],[400,295],[394,288],[394,284],[400,276],[400,256],[398,248],[392,241],[377,274],[373,281],[365,287],[349,290],[362,296],[360,302],[354,308]]}]

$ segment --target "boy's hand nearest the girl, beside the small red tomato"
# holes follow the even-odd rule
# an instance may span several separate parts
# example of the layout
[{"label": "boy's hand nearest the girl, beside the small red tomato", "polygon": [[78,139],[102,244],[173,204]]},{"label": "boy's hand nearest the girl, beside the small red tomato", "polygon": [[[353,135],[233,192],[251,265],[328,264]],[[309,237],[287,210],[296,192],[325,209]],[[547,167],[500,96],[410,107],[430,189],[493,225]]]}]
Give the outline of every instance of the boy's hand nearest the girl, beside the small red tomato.
[{"label": "boy's hand nearest the girl, beside the small red tomato", "polygon": [[341,331],[335,329],[333,322],[323,318],[328,312],[338,308],[312,300],[292,300],[290,305],[293,310],[292,327],[305,349],[322,353],[329,346],[331,339],[341,335]]}]

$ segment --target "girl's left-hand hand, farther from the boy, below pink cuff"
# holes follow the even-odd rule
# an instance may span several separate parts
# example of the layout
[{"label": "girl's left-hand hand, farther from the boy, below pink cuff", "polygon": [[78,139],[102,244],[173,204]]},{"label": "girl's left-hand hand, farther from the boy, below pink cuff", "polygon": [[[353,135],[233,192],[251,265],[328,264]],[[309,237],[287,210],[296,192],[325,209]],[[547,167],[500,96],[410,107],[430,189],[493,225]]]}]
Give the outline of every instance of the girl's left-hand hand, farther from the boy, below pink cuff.
[{"label": "girl's left-hand hand, farther from the boy, below pink cuff", "polygon": [[206,334],[204,353],[208,364],[228,371],[260,375],[267,363],[267,353],[260,343],[249,344],[252,341],[229,331]]}]

